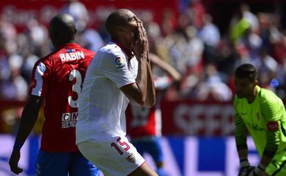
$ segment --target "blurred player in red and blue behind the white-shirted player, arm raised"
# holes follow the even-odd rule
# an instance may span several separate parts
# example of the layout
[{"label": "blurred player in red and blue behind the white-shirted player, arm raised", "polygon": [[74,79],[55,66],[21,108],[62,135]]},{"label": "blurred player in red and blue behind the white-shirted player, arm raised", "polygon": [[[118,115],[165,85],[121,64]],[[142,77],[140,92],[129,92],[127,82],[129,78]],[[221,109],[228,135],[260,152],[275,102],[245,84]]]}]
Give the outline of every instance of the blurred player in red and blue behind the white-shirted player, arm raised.
[{"label": "blurred player in red and blue behind the white-shirted player, arm raised", "polygon": [[160,143],[162,129],[160,101],[166,89],[173,83],[178,83],[181,76],[171,65],[162,61],[155,54],[149,54],[149,58],[153,65],[152,73],[156,89],[155,107],[136,107],[131,104],[126,111],[127,134],[131,137],[131,143],[137,148],[138,153],[141,155],[149,153],[152,156],[158,175],[163,176],[165,173]]}]

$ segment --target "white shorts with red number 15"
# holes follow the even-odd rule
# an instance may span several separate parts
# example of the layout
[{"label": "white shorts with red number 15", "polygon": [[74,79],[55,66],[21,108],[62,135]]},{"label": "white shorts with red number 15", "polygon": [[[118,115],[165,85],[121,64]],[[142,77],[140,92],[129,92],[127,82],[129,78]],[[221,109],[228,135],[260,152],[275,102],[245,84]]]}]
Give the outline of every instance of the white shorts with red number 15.
[{"label": "white shorts with red number 15", "polygon": [[144,164],[144,158],[124,136],[98,142],[88,140],[77,144],[79,151],[97,166],[104,176],[129,175]]}]

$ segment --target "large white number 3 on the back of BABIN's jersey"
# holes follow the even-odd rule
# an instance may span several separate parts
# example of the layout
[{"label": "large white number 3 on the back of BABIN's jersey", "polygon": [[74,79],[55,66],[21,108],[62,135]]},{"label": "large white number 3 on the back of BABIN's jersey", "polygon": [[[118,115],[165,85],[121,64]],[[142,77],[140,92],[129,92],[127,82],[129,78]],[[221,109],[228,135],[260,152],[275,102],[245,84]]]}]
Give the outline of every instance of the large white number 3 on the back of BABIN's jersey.
[{"label": "large white number 3 on the back of BABIN's jersey", "polygon": [[70,72],[69,80],[73,81],[75,78],[75,84],[73,85],[72,90],[77,93],[77,99],[73,100],[72,96],[68,96],[68,104],[70,104],[70,107],[77,108],[79,107],[78,103],[78,96],[81,92],[81,85],[82,85],[82,74],[77,69],[74,69],[72,72]]}]

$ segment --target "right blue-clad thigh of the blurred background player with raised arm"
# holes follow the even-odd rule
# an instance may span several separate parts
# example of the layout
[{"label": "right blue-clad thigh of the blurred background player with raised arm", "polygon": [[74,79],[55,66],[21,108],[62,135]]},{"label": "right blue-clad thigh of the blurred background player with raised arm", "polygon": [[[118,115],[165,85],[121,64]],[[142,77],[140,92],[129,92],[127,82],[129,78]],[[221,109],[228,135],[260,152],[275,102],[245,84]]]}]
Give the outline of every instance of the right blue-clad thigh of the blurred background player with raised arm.
[{"label": "right blue-clad thigh of the blurred background player with raised arm", "polygon": [[151,137],[146,145],[146,151],[150,153],[156,164],[163,162],[163,151],[160,143],[160,137]]}]

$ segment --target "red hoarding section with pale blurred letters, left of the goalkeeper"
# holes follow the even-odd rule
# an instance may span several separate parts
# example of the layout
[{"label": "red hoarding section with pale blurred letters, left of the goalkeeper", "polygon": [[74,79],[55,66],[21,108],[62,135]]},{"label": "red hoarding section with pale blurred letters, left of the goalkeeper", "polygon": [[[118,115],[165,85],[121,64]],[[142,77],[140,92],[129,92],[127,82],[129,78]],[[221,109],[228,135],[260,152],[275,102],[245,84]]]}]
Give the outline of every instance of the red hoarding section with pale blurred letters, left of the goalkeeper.
[{"label": "red hoarding section with pale blurred letters, left of the goalkeeper", "polygon": [[231,102],[163,101],[163,135],[233,135]]}]

